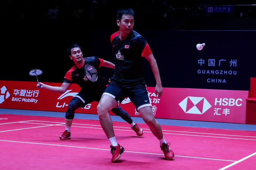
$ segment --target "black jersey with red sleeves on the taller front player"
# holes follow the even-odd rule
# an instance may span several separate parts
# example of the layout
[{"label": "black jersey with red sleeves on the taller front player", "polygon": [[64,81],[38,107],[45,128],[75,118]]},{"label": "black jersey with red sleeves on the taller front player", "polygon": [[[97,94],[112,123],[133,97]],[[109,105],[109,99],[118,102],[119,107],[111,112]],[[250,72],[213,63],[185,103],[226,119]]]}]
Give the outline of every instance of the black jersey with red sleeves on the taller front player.
[{"label": "black jersey with red sleeves on the taller front player", "polygon": [[146,39],[134,30],[128,37],[120,39],[119,32],[110,37],[116,57],[113,79],[123,85],[146,83],[143,57],[152,54]]}]

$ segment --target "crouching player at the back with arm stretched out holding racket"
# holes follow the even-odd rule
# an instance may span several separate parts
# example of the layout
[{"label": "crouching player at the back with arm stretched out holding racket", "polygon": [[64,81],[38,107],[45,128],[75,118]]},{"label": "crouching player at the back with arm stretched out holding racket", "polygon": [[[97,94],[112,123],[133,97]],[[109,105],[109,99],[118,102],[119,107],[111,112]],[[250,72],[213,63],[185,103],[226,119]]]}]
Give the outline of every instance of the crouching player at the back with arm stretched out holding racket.
[{"label": "crouching player at the back with arm stretched out holding racket", "polygon": [[[74,61],[74,66],[69,69],[69,71],[64,76],[64,82],[60,87],[57,86],[49,86],[47,84],[39,82],[37,86],[41,86],[42,89],[51,90],[54,92],[64,93],[71,86],[71,83],[76,83],[81,87],[80,92],[75,95],[68,104],[68,109],[65,115],[65,131],[60,136],[60,140],[68,140],[71,138],[70,128],[72,125],[72,121],[75,116],[75,110],[79,107],[84,107],[85,105],[96,101],[99,102],[101,99],[102,93],[106,89],[106,85],[102,84],[100,80],[96,82],[91,82],[85,76],[84,66],[87,64],[93,65],[96,69],[99,67],[109,67],[114,68],[114,64],[109,61],[102,60],[97,57],[83,57],[82,49],[79,45],[73,44],[67,50],[68,56],[71,60]],[[132,121],[130,115],[123,110],[121,107],[113,108],[111,110],[117,116],[120,116],[125,121],[127,121],[133,131],[136,132],[138,136],[143,135],[143,130]]]}]

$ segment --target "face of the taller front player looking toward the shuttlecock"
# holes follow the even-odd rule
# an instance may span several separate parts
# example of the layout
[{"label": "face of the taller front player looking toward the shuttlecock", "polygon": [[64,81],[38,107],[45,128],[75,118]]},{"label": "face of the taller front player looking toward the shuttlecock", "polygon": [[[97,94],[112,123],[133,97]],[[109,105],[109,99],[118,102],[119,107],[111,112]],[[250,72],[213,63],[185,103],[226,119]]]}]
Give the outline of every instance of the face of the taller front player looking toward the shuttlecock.
[{"label": "face of the taller front player looking toward the shuttlecock", "polygon": [[[117,24],[118,24],[117,20]],[[123,15],[121,21],[119,21],[119,29],[123,33],[131,33],[134,26],[134,17],[132,15]]]}]

